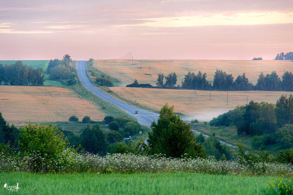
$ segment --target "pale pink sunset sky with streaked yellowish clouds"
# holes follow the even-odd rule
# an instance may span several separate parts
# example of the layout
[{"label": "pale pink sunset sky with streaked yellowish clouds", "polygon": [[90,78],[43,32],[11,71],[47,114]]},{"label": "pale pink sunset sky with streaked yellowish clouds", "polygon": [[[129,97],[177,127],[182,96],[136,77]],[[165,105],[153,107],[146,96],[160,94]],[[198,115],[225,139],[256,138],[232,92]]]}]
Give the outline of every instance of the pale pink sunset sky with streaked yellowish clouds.
[{"label": "pale pink sunset sky with streaked yellowish clouds", "polygon": [[293,0],[0,0],[0,59],[272,60]]}]

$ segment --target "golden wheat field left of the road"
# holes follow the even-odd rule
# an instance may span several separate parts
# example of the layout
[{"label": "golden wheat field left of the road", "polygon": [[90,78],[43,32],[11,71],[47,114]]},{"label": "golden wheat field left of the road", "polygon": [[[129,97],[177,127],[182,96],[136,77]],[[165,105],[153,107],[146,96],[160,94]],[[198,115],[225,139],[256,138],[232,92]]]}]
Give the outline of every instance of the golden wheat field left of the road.
[{"label": "golden wheat field left of the road", "polygon": [[6,86],[0,87],[0,112],[15,125],[24,121],[68,121],[71,115],[79,120],[86,115],[91,120],[103,120],[104,113],[78,94],[59,87]]}]

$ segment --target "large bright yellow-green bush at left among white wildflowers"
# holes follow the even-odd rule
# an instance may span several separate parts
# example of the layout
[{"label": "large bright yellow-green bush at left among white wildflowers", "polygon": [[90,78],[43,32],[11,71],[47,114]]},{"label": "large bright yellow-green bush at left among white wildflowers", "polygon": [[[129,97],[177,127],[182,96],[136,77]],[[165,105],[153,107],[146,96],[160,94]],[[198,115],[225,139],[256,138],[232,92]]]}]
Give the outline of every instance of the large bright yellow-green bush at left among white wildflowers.
[{"label": "large bright yellow-green bush at left among white wildflowers", "polygon": [[38,152],[41,157],[36,159],[36,166],[33,167],[36,172],[49,165],[51,160],[57,160],[67,144],[57,125],[44,122],[43,125],[24,123],[21,126],[18,146],[22,153]]}]

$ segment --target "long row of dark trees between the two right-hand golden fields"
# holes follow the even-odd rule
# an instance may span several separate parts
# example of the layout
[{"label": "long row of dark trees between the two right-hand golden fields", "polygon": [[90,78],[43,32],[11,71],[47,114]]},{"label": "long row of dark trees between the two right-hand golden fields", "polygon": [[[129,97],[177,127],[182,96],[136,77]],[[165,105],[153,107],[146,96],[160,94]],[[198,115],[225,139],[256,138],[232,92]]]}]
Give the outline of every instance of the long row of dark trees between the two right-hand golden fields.
[{"label": "long row of dark trees between the two right-hand golden fields", "polygon": [[[234,80],[232,74],[228,74],[222,69],[216,69],[213,84],[206,80],[207,73],[199,71],[197,74],[194,72],[188,72],[185,75],[182,88],[184,89],[200,89],[200,90],[219,90],[219,91],[293,91],[293,74],[292,72],[284,71],[281,78],[277,75],[276,71],[272,71],[271,74],[264,75],[263,72],[258,76],[256,85],[249,82],[245,73],[238,75]],[[164,83],[164,78],[166,82]],[[142,87],[142,88],[165,88],[165,89],[178,89],[176,87],[177,75],[175,72],[169,73],[164,76],[163,73],[158,74],[157,86],[151,84],[139,84],[135,79],[132,84],[126,85],[126,87]]]}]

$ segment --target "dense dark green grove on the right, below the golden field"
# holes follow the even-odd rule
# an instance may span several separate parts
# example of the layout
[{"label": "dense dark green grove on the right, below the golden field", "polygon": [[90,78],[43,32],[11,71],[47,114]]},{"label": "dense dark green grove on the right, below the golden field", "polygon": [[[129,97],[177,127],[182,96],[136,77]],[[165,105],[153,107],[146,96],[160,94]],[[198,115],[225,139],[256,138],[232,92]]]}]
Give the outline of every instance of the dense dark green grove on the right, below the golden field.
[{"label": "dense dark green grove on the right, below the golden field", "polygon": [[281,143],[284,147],[293,146],[293,96],[282,95],[276,102],[254,102],[237,106],[217,118],[211,126],[236,126],[237,134],[258,135],[253,141],[255,146],[263,147]]}]

